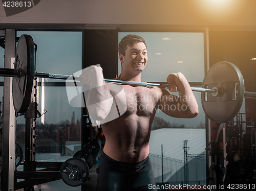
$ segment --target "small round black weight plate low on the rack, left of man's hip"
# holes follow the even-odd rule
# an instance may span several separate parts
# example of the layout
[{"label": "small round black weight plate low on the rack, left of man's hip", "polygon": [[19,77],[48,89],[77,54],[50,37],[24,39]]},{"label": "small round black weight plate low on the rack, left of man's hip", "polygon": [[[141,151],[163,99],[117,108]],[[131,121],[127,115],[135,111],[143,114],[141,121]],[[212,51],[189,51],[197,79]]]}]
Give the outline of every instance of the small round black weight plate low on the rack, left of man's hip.
[{"label": "small round black weight plate low on the rack, left of man's hip", "polygon": [[60,177],[69,186],[80,186],[89,177],[88,165],[80,158],[70,158],[61,165]]}]

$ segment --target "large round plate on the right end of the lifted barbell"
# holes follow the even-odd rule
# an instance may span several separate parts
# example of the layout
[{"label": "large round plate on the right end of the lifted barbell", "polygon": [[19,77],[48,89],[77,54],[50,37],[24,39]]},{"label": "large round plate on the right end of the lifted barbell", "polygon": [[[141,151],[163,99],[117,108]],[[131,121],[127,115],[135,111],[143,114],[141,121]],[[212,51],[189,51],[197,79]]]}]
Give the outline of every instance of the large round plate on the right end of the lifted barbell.
[{"label": "large round plate on the right end of the lifted barbell", "polygon": [[[206,116],[221,124],[232,120],[239,112],[244,98],[244,79],[239,68],[230,62],[218,62],[205,75],[203,88],[224,88],[221,97],[202,92],[202,107]],[[238,93],[236,94],[236,91]]]}]

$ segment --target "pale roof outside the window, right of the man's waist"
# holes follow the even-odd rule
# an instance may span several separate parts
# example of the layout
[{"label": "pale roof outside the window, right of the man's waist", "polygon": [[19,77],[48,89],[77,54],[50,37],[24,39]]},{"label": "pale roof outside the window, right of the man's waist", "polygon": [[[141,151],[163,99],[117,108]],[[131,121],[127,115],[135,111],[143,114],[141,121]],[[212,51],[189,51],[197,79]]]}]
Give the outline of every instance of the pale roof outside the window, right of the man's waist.
[{"label": "pale roof outside the window, right of the man's waist", "polygon": [[[174,184],[184,183],[184,140],[189,147],[187,154],[189,184],[206,184],[206,159],[205,159],[205,129],[172,129],[164,128],[151,131],[150,160],[153,166],[156,182]],[[162,152],[163,145],[163,175],[162,175]],[[189,157],[196,155],[197,157]],[[198,156],[199,155],[199,156]]]}]

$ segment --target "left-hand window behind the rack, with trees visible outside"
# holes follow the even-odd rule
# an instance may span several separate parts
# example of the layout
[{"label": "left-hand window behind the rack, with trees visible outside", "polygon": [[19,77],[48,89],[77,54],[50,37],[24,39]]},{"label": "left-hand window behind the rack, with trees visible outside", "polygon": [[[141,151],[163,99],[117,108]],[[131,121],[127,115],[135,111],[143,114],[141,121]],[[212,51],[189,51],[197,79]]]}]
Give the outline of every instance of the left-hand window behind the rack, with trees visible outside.
[{"label": "left-hand window behind the rack, with trees visible outside", "polygon": [[[37,72],[72,75],[81,69],[82,32],[17,32],[22,34],[31,35],[37,44]],[[39,78],[38,82],[38,110],[47,112],[36,121],[36,160],[65,161],[81,148],[81,108],[69,105],[65,80],[44,79],[42,85]],[[24,116],[17,117],[16,133],[24,150]]]}]

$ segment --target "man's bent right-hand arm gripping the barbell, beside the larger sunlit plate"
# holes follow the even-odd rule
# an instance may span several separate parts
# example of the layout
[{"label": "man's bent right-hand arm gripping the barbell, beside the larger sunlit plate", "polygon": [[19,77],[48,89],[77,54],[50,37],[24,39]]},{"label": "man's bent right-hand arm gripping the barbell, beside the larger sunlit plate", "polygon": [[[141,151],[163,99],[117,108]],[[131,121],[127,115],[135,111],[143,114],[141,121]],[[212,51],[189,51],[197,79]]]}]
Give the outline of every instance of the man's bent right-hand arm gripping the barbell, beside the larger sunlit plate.
[{"label": "man's bent right-hand arm gripping the barbell, beside the larger sunlit plate", "polygon": [[190,85],[182,73],[173,73],[167,77],[170,84],[170,92],[179,91],[179,96],[170,94],[166,89],[162,89],[162,97],[158,104],[165,114],[180,118],[193,118],[198,114],[197,100]]}]

